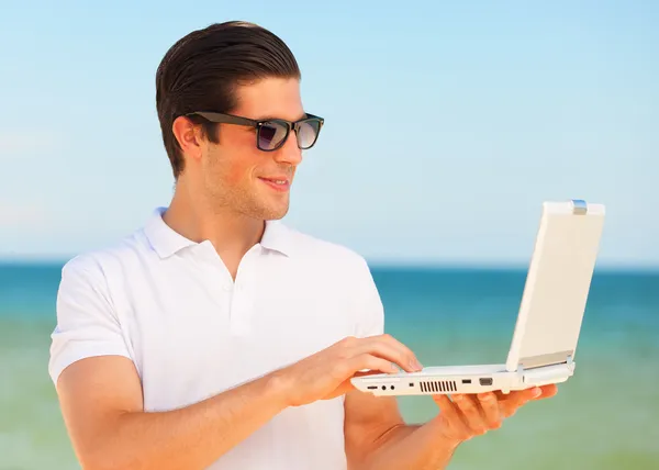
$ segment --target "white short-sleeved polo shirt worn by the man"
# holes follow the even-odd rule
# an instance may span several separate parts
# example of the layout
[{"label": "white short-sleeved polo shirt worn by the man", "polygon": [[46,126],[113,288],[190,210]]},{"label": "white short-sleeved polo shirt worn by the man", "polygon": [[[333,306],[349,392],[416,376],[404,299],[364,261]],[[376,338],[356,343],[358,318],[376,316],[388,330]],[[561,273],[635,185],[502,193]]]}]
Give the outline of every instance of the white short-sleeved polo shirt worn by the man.
[{"label": "white short-sleeved polo shirt worn by the man", "polygon": [[[166,411],[346,336],[382,333],[380,296],[354,251],[268,222],[234,282],[211,243],[174,232],[164,211],[118,246],[64,267],[48,367],[55,383],[79,359],[125,356],[145,411]],[[343,405],[337,398],[287,409],[210,468],[345,469]]]}]

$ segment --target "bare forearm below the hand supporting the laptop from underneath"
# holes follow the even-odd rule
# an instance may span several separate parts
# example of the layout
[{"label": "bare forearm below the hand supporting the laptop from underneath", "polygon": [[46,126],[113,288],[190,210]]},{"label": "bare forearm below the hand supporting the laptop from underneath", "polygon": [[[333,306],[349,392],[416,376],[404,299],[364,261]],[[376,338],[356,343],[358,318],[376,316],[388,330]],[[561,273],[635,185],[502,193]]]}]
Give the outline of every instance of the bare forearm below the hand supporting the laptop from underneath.
[{"label": "bare forearm below the hand supporting the laptop from underneath", "polygon": [[445,469],[458,443],[440,437],[438,423],[393,428],[378,443],[367,459],[365,469],[440,470]]}]

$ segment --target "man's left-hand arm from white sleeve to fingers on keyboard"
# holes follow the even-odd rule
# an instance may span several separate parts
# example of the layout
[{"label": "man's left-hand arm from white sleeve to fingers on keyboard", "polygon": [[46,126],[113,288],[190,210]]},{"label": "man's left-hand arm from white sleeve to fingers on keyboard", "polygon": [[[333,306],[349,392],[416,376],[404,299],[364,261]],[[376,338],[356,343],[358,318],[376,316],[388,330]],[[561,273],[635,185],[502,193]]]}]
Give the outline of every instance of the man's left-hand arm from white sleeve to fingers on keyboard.
[{"label": "man's left-hand arm from white sleeve to fingers on keyboard", "polygon": [[[85,262],[85,261],[79,261]],[[187,407],[145,412],[109,290],[93,264],[63,271],[49,372],[86,469],[209,466],[288,406],[349,390],[360,370],[398,372],[413,354],[388,335],[346,338],[302,361]]]}]

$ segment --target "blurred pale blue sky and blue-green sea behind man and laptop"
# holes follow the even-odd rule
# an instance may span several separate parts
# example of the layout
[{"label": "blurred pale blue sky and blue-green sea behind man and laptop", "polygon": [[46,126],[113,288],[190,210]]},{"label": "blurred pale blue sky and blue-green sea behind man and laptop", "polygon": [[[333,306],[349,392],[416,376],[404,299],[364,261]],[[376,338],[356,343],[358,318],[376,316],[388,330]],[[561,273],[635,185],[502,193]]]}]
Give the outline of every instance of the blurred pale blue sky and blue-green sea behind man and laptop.
[{"label": "blurred pale blue sky and blue-green sea behind man and laptop", "polygon": [[169,203],[156,69],[228,20],[290,46],[325,119],[284,222],[369,260],[425,365],[503,361],[541,203],[606,205],[576,376],[450,468],[659,469],[659,1],[0,0],[0,470],[77,468],[60,268]]}]

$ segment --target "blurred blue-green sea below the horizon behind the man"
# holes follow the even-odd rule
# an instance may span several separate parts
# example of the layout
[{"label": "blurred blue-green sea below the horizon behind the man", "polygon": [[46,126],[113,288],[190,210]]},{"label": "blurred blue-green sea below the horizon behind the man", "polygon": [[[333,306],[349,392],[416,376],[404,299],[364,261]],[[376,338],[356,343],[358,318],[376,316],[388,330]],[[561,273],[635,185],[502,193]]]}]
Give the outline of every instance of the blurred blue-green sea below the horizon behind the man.
[{"label": "blurred blue-green sea below the horizon behind the man", "polygon": [[[0,265],[0,469],[77,469],[47,373],[62,265]],[[426,366],[504,362],[525,270],[373,267],[388,333]],[[597,270],[554,399],[460,446],[449,469],[659,469],[659,272]],[[410,423],[428,396],[400,400]]]}]

